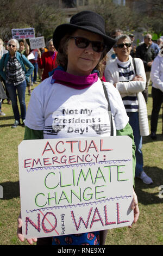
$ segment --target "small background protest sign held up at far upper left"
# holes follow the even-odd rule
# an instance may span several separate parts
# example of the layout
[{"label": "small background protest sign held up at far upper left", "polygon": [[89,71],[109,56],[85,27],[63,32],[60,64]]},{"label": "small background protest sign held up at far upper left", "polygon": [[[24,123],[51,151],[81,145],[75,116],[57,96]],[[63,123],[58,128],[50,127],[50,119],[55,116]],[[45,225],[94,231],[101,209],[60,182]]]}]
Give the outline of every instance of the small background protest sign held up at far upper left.
[{"label": "small background protest sign held up at far upper left", "polygon": [[12,39],[28,39],[35,37],[35,29],[34,28],[12,28]]}]

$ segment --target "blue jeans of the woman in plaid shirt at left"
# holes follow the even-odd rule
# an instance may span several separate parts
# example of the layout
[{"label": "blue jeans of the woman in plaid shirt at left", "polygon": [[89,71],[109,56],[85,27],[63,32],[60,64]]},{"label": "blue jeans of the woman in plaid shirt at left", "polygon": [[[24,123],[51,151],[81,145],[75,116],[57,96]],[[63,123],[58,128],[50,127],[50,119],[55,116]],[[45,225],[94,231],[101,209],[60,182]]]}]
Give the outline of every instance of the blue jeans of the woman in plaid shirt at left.
[{"label": "blue jeans of the woman in plaid shirt at left", "polygon": [[17,95],[18,95],[18,101],[20,103],[20,109],[21,109],[21,118],[22,120],[26,119],[26,102],[25,102],[25,94],[26,94],[26,80],[24,80],[22,83],[18,84],[17,86],[14,86],[12,83],[6,83],[6,87],[9,92],[9,96],[12,102],[12,110],[14,112],[15,120],[20,121],[20,113],[18,111],[18,105],[17,105]]}]

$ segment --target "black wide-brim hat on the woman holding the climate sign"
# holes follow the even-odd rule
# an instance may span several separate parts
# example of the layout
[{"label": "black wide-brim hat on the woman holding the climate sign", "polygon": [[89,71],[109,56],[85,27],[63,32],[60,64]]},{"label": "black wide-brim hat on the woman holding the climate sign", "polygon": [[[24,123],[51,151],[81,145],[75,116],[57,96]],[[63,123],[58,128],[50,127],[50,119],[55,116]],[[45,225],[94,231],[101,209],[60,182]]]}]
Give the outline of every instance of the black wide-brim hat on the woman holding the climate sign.
[{"label": "black wide-brim hat on the woman holding the climate sign", "polygon": [[59,25],[53,34],[53,44],[58,51],[60,40],[67,34],[76,29],[83,29],[103,36],[108,51],[114,46],[116,40],[105,34],[105,22],[101,15],[93,11],[81,11],[71,17],[70,23]]}]

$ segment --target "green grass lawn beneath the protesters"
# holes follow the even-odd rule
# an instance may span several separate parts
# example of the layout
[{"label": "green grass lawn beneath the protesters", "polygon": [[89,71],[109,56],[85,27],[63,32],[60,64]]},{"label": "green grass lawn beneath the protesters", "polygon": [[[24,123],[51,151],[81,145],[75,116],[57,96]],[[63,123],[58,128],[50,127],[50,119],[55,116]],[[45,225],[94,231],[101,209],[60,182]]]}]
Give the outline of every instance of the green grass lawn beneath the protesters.
[{"label": "green grass lawn beneath the protesters", "polygon": [[[151,86],[147,103],[148,119],[152,111]],[[33,88],[32,88],[33,89]],[[26,90],[28,105],[30,96]],[[7,100],[2,104],[5,117],[0,117],[0,185],[3,199],[0,199],[0,245],[27,245],[17,239],[17,217],[20,212],[20,191],[18,182],[18,144],[23,139],[24,127],[11,129],[14,116]],[[144,170],[153,179],[152,185],[135,180],[135,191],[139,199],[140,217],[133,228],[116,228],[108,231],[106,245],[162,245],[163,244],[163,199],[159,198],[159,186],[163,185],[163,136],[162,110],[159,115],[158,139],[143,137]]]}]

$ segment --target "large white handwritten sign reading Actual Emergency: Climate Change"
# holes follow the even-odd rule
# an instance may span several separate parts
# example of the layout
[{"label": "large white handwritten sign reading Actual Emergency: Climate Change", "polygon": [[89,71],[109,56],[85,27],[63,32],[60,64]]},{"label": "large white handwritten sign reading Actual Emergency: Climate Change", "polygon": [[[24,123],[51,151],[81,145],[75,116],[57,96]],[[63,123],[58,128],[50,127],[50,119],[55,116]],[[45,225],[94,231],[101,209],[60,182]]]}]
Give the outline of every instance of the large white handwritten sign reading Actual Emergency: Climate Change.
[{"label": "large white handwritten sign reading Actual Emergency: Climate Change", "polygon": [[22,141],[18,161],[24,237],[80,234],[133,222],[128,136]]}]

